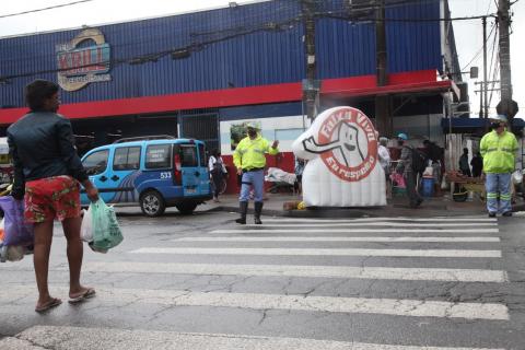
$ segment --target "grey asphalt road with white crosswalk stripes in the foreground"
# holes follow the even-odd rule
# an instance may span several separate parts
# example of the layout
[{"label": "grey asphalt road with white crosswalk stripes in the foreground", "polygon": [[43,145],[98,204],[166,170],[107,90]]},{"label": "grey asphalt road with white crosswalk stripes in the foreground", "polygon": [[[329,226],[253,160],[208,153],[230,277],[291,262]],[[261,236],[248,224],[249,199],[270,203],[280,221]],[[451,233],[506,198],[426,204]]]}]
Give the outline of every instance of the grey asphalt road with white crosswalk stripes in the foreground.
[{"label": "grey asphalt road with white crosswalk stripes in the foreground", "polygon": [[[235,218],[120,217],[96,298],[45,315],[31,257],[1,264],[0,349],[525,349],[525,218]],[[59,226],[51,255],[66,301]]]}]

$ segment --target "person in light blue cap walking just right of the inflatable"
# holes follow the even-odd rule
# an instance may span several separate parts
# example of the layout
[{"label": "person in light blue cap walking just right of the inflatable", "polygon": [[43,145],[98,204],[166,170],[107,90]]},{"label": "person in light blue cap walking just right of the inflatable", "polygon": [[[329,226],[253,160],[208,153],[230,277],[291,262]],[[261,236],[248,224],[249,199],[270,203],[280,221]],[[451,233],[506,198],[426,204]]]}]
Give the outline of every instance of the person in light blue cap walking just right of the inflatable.
[{"label": "person in light blue cap walking just right of the inflatable", "polygon": [[407,185],[407,196],[410,208],[418,208],[423,202],[423,198],[419,195],[417,183],[418,173],[412,168],[413,149],[406,144],[408,136],[404,132],[397,136],[397,144],[401,148],[401,155],[397,163],[396,172],[402,174]]}]

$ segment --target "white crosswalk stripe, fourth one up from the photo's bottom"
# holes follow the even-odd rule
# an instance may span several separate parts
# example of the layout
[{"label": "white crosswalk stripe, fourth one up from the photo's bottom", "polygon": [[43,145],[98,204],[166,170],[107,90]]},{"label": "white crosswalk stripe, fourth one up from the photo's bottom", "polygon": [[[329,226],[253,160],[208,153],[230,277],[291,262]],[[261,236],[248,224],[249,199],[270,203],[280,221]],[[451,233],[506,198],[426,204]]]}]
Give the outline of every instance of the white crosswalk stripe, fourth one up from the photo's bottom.
[{"label": "white crosswalk stripe, fourth one up from the photo's bottom", "polygon": [[450,257],[501,258],[501,250],[469,249],[300,249],[300,248],[195,248],[143,247],[133,254],[195,254],[195,255],[294,255],[294,256],[382,256],[382,257]]}]

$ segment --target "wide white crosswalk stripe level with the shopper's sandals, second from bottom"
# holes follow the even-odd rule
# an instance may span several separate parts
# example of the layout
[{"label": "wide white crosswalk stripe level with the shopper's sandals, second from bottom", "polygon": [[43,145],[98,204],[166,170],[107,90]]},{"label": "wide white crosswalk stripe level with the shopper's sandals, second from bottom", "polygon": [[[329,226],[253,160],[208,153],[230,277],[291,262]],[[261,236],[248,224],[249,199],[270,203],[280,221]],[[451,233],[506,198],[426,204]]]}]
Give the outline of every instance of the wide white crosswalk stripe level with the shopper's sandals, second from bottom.
[{"label": "wide white crosswalk stripe level with the shopper's sandals, second from bottom", "polygon": [[[22,285],[27,292],[33,285]],[[67,293],[69,288],[54,288]],[[2,292],[0,300],[21,298],[15,285]],[[509,310],[498,303],[462,303],[429,300],[339,298],[293,294],[189,292],[177,290],[97,288],[97,301],[104,303],[143,303],[172,306],[240,307],[322,313],[381,314],[406,317],[444,317],[508,320]]]}]

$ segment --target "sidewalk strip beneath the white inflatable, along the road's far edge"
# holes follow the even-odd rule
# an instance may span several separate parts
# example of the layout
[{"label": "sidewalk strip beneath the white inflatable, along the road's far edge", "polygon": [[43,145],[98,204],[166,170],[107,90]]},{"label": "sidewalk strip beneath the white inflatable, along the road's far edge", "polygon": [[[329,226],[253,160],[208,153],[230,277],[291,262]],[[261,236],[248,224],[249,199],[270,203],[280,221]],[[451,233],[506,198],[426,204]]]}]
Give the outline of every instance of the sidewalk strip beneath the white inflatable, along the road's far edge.
[{"label": "sidewalk strip beneath the white inflatable, along the road's far edge", "polygon": [[[267,194],[262,215],[294,217],[294,218],[360,218],[360,217],[458,217],[482,215],[487,213],[486,206],[478,199],[465,202],[455,202],[447,195],[444,197],[427,198],[418,209],[408,207],[405,197],[394,197],[385,207],[375,208],[317,208],[311,210],[283,210],[284,202],[299,201],[301,196],[291,194]],[[524,210],[523,201],[514,206],[515,210]],[[249,203],[249,214],[253,214],[253,202]],[[220,202],[208,201],[197,207],[197,212],[226,211],[238,212],[238,197],[224,195]],[[167,213],[176,213],[175,208],[166,209]],[[139,206],[117,207],[117,213],[122,215],[141,215]]]}]

